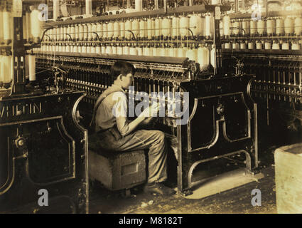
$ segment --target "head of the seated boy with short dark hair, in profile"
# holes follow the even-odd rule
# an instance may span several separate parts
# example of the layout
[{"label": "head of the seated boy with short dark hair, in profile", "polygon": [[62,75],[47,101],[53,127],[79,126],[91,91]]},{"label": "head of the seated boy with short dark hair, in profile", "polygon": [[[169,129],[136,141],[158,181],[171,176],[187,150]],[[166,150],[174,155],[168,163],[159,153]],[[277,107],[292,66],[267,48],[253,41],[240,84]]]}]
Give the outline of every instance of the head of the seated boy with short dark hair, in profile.
[{"label": "head of the seated boy with short dark hair, in profile", "polygon": [[117,61],[111,68],[112,83],[127,89],[132,85],[135,68],[126,61]]}]

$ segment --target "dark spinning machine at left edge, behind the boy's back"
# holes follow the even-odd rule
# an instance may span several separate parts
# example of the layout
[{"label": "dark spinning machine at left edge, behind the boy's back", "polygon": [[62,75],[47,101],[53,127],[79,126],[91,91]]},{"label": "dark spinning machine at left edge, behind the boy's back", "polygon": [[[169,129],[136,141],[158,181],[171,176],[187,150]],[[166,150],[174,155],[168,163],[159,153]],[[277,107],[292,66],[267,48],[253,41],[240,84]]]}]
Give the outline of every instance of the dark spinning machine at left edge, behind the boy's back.
[{"label": "dark spinning machine at left edge, behind the boy's back", "polygon": [[58,68],[36,81],[41,2],[0,2],[0,212],[87,213],[85,93],[66,90]]}]

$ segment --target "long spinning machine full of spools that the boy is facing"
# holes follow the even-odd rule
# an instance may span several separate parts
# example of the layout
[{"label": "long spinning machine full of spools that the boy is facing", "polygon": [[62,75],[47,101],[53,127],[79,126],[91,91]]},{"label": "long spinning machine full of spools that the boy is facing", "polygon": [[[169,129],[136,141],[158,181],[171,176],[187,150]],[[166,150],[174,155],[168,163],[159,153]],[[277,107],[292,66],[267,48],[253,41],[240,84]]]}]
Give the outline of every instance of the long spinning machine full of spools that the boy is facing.
[{"label": "long spinning machine full of spools that the boy is facing", "polygon": [[153,10],[142,8],[45,23],[45,41],[34,50],[37,71],[43,71],[37,80],[55,66],[66,73],[66,88],[85,91],[78,117],[87,128],[95,101],[111,86],[110,67],[129,61],[136,67],[129,102],[144,94],[169,110],[157,125],[176,139],[178,193],[192,193],[195,167],[222,157],[245,155],[252,174],[258,166],[254,76],[222,72],[219,24],[230,7],[163,1]]}]

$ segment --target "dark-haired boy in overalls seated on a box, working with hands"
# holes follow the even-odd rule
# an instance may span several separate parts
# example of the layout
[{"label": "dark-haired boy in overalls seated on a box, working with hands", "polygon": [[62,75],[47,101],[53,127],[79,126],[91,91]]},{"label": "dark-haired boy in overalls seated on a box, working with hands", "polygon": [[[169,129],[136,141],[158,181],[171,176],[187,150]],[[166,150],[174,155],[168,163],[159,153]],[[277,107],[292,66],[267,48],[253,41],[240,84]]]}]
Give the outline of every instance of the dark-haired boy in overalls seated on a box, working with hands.
[{"label": "dark-haired boy in overalls seated on a box, working with hands", "polygon": [[107,150],[129,151],[149,149],[149,177],[144,192],[170,195],[174,193],[161,182],[167,179],[165,135],[158,130],[136,130],[149,124],[159,105],[146,108],[135,120],[127,118],[128,100],[125,89],[132,85],[135,68],[131,63],[117,61],[111,69],[112,87],[97,99],[91,127],[95,128],[97,146]]}]

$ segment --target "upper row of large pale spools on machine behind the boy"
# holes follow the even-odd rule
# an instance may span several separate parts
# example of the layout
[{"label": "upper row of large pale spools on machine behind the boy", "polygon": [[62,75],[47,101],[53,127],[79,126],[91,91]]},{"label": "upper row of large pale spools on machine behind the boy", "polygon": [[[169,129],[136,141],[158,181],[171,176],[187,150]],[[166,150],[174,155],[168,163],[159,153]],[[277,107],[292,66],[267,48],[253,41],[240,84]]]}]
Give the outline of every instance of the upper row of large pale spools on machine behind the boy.
[{"label": "upper row of large pale spools on machine behind the boy", "polygon": [[186,38],[189,36],[212,37],[214,18],[212,14],[154,17],[99,21],[96,23],[69,24],[47,31],[46,41],[96,41],[130,40],[133,38]]}]

